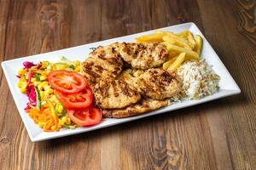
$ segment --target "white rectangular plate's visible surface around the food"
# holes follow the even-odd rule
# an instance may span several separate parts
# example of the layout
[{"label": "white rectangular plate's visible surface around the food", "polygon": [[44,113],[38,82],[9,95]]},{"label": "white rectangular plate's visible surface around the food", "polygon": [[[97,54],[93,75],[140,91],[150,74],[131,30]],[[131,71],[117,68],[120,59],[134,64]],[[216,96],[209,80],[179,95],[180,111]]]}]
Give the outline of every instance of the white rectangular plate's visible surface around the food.
[{"label": "white rectangular plate's visible surface around the food", "polygon": [[234,79],[230,76],[229,71],[227,71],[224,64],[218,58],[218,55],[215,53],[215,51],[212,49],[209,42],[207,42],[207,39],[202,35],[201,31],[198,29],[197,26],[195,26],[194,23],[185,23],[177,26],[168,26],[165,28],[160,28],[158,30],[172,31],[172,32],[189,30],[194,34],[199,34],[201,35],[201,37],[203,37],[203,48],[202,48],[201,57],[206,59],[207,63],[209,65],[212,65],[213,71],[215,71],[220,76],[218,93],[212,94],[210,96],[204,97],[203,99],[199,99],[199,100],[186,100],[186,101],[174,103],[173,105],[169,105],[159,110],[151,111],[149,113],[146,113],[140,116],[132,116],[132,117],[127,117],[122,119],[109,119],[109,118],[104,119],[102,123],[94,127],[78,127],[73,130],[62,129],[59,132],[46,133],[41,128],[39,128],[24,111],[24,108],[27,103],[26,95],[20,94],[20,90],[16,86],[18,82],[18,78],[16,77],[16,74],[18,69],[22,67],[22,63],[24,61],[33,61],[35,63],[38,63],[39,61],[42,61],[42,60],[57,61],[58,59],[60,59],[59,58],[60,56],[65,56],[67,57],[67,59],[71,59],[71,60],[73,59],[84,60],[87,57],[87,55],[90,53],[91,51],[90,48],[96,48],[100,45],[105,46],[112,42],[134,42],[136,37],[139,37],[148,33],[152,33],[153,31],[145,31],[145,32],[133,34],[130,36],[117,37],[117,38],[109,39],[102,42],[93,42],[90,44],[81,45],[74,48],[61,49],[61,50],[46,53],[46,54],[37,54],[37,55],[32,55],[32,56],[28,56],[20,59],[3,61],[2,67],[3,67],[4,74],[6,76],[7,82],[9,84],[11,94],[15,99],[15,104],[17,105],[22,121],[25,124],[26,130],[32,142],[41,141],[45,139],[55,139],[55,138],[60,138],[63,136],[73,135],[77,133],[85,133],[85,132],[96,130],[102,127],[109,127],[119,123],[137,120],[146,116],[152,116],[152,115],[164,113],[167,111],[170,112],[180,108],[189,107],[191,105],[198,105],[207,101],[211,101],[213,99],[224,98],[225,96],[239,94],[241,92],[241,90],[236,85],[236,82],[234,81]]}]

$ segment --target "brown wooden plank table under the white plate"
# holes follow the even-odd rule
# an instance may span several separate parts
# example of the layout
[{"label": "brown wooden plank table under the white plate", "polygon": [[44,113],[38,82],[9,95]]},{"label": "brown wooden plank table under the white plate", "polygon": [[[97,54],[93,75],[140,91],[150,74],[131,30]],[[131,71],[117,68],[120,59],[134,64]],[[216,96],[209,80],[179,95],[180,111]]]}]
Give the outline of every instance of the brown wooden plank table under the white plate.
[{"label": "brown wooden plank table under the white plate", "polygon": [[[1,0],[0,59],[193,21],[241,94],[32,143],[0,70],[0,169],[256,169],[256,2]],[[211,56],[209,56],[211,57]]]}]

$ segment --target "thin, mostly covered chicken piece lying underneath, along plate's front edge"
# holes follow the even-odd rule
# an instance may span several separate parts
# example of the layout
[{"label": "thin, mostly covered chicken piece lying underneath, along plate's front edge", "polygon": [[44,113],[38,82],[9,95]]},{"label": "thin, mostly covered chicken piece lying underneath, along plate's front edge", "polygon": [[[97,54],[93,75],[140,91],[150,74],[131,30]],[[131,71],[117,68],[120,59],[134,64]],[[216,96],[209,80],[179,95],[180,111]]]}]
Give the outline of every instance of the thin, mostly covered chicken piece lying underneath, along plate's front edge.
[{"label": "thin, mostly covered chicken piece lying underneath, along plate's front edge", "polygon": [[156,99],[141,99],[137,104],[130,105],[124,109],[116,110],[102,110],[104,117],[122,118],[128,116],[141,115],[148,111],[154,111],[169,105],[169,99],[166,100],[156,100]]}]

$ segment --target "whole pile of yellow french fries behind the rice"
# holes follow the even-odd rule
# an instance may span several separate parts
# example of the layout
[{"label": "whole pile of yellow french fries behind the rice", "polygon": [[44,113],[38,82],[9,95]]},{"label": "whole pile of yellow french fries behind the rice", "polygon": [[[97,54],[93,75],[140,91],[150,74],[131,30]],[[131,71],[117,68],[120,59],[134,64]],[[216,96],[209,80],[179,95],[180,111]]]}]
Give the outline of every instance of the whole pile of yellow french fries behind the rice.
[{"label": "whole pile of yellow french fries behind the rice", "polygon": [[137,37],[136,42],[161,42],[166,44],[170,59],[163,65],[167,71],[176,71],[187,60],[198,60],[201,55],[202,38],[190,31],[174,34],[169,31],[155,31],[154,34]]}]

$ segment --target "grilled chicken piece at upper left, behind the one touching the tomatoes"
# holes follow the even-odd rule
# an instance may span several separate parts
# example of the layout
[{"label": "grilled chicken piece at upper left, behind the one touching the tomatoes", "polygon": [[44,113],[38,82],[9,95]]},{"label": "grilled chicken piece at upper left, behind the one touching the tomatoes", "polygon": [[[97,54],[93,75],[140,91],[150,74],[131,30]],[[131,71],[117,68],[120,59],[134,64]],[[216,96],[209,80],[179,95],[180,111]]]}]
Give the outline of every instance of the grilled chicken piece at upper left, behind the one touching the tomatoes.
[{"label": "grilled chicken piece at upper left, behind the one touching the tomatoes", "polygon": [[81,64],[81,71],[90,85],[100,80],[115,78],[122,71],[123,60],[113,45],[98,47]]}]

